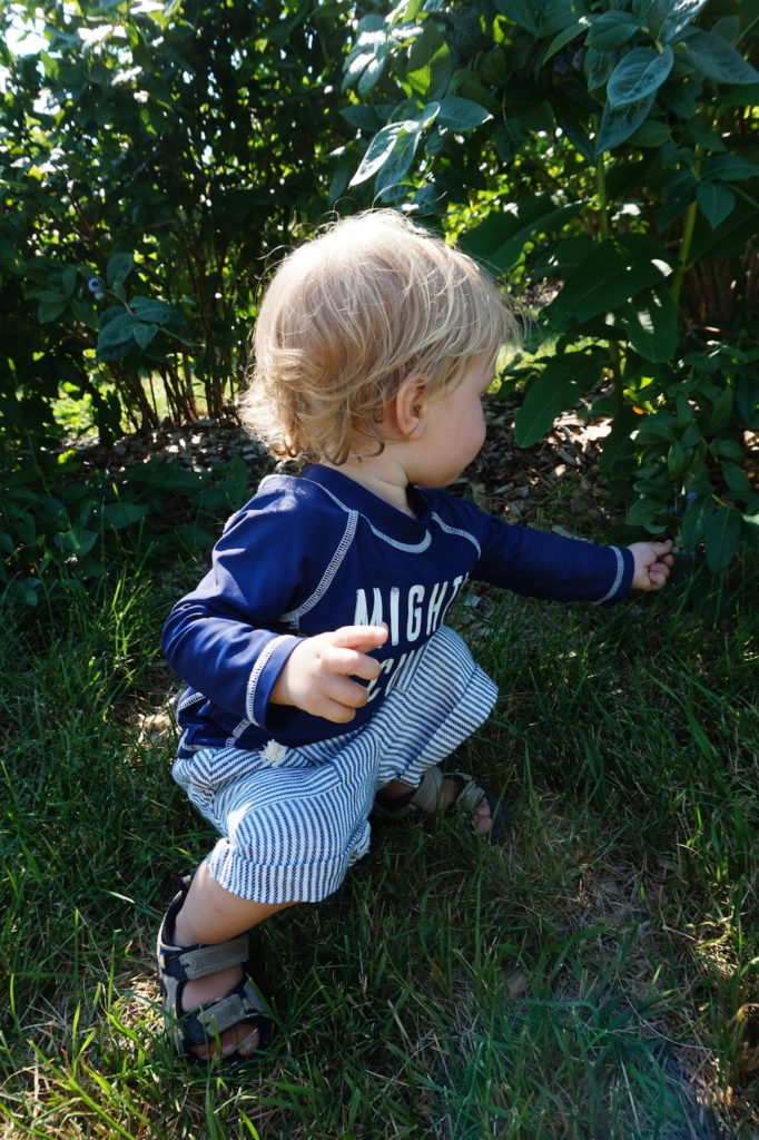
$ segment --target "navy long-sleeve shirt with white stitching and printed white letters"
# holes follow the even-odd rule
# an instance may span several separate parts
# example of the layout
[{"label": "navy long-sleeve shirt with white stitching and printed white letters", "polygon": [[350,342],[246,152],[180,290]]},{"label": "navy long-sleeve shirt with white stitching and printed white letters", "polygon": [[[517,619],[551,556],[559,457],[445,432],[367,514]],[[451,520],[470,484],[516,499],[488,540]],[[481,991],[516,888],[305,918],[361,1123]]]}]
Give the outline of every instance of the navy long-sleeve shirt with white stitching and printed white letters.
[{"label": "navy long-sleeve shirt with white stitching and printed white letters", "polygon": [[[319,465],[262,481],[165,625],[166,659],[189,685],[180,756],[360,728],[470,578],[555,601],[609,603],[630,587],[627,549],[512,527],[442,490],[411,488],[409,502],[416,518]],[[373,653],[382,671],[350,724],[269,702],[300,638],[382,621],[390,635]]]}]

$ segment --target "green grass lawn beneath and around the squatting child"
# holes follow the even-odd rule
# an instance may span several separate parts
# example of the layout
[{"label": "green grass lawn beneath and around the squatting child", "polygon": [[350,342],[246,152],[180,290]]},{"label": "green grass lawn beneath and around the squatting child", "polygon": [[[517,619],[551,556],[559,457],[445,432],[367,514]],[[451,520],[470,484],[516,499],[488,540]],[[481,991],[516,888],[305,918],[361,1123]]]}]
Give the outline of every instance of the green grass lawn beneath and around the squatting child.
[{"label": "green grass lawn beneath and around the squatting child", "polygon": [[[3,613],[0,1134],[60,1140],[685,1140],[759,1130],[756,593],[459,611],[499,682],[457,758],[500,849],[378,828],[326,903],[256,931],[279,1023],[239,1075],[161,1033],[153,942],[212,836],[171,781],[147,571]],[[753,606],[753,609],[752,609]]]}]

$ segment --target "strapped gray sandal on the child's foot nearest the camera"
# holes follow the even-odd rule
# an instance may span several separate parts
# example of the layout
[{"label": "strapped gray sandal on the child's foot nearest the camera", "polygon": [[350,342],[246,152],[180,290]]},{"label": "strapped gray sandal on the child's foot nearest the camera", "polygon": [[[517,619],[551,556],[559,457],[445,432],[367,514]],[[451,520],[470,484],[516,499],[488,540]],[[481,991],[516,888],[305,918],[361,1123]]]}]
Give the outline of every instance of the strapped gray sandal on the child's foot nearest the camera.
[{"label": "strapped gray sandal on the child's foot nearest the camera", "polygon": [[193,1052],[196,1045],[218,1041],[226,1029],[245,1021],[251,1028],[259,1031],[258,1049],[252,1054],[235,1050],[225,1054],[222,1060],[225,1064],[250,1061],[269,1047],[274,1029],[271,1010],[250,978],[244,978],[226,997],[219,997],[194,1010],[185,1010],[182,1005],[182,992],[189,980],[204,978],[209,974],[217,974],[231,966],[240,966],[248,958],[247,934],[238,935],[219,945],[173,945],[174,922],[185,904],[190,882],[191,878],[181,880],[179,894],[172,899],[161,923],[156,951],[163,1010],[170,1025],[174,1049],[181,1056],[201,1060]]}]

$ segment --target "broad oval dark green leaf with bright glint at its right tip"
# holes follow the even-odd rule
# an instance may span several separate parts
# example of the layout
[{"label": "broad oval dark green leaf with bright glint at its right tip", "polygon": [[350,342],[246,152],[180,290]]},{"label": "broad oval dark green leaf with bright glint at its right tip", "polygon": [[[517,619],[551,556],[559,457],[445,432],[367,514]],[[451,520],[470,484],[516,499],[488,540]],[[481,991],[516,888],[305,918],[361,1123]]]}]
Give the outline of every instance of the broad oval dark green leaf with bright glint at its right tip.
[{"label": "broad oval dark green leaf with bright glint at its right tip", "polygon": [[643,234],[599,242],[571,272],[546,309],[558,332],[611,312],[671,272],[663,247]]}]

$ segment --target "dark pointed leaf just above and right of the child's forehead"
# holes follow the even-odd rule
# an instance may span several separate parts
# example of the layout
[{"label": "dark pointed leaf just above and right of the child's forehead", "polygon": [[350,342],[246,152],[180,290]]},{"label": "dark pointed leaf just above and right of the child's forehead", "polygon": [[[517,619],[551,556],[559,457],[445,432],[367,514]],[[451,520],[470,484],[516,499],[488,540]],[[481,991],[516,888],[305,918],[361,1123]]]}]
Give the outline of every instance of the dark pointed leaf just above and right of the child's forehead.
[{"label": "dark pointed leaf just above and right of the child's forehead", "polygon": [[548,194],[536,194],[493,210],[460,238],[462,249],[493,269],[511,269],[525,244],[538,235],[562,229],[582,209],[582,202],[556,205]]}]

